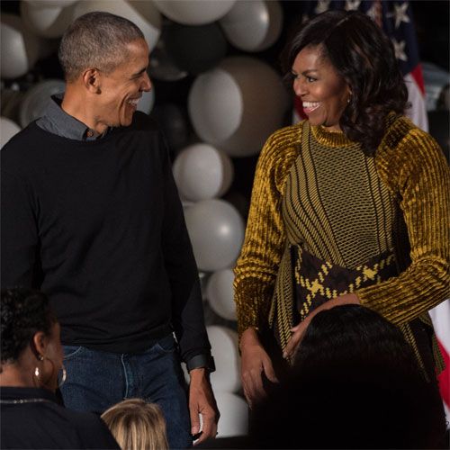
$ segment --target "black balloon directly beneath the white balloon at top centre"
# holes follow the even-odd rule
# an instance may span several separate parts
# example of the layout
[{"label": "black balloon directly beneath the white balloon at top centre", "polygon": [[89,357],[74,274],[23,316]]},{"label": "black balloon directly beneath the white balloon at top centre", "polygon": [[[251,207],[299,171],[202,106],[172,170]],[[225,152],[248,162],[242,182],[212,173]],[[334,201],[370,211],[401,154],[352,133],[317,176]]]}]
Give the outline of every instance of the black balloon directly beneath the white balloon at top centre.
[{"label": "black balloon directly beneath the white balloon at top centre", "polygon": [[219,64],[227,53],[227,40],[217,23],[181,25],[166,29],[166,49],[176,65],[198,75]]}]

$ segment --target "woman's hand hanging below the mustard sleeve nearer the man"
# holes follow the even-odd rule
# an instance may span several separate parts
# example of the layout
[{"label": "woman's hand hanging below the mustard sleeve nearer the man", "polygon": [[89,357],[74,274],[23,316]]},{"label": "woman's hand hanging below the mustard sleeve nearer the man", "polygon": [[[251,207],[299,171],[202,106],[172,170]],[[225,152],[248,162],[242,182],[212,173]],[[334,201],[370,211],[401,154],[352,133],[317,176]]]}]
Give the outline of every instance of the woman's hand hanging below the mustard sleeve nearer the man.
[{"label": "woman's hand hanging below the mustard sleeve nearer the man", "polygon": [[248,406],[250,409],[261,401],[266,392],[263,375],[272,383],[277,383],[274,366],[266,350],[259,342],[256,329],[246,329],[240,338],[241,378]]}]

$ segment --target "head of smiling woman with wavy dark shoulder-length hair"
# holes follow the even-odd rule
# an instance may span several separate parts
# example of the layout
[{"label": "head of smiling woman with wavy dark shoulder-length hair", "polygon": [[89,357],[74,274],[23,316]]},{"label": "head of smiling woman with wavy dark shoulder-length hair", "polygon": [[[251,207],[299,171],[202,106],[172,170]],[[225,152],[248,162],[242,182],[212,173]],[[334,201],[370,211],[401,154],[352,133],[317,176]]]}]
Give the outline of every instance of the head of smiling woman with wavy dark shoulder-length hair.
[{"label": "head of smiling woman with wavy dark shoulder-length hair", "polygon": [[305,23],[284,50],[284,71],[311,125],[342,130],[374,154],[390,112],[408,91],[392,42],[367,15],[328,11]]}]

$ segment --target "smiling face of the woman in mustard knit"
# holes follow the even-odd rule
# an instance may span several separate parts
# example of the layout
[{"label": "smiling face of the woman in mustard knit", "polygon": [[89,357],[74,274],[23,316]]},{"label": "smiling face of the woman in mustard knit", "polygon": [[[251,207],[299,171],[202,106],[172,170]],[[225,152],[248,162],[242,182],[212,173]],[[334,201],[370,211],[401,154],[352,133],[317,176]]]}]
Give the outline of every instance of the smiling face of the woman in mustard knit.
[{"label": "smiling face of the woman in mustard knit", "polygon": [[340,130],[339,119],[347,107],[350,87],[320,46],[305,47],[293,61],[293,90],[302,99],[311,125]]}]

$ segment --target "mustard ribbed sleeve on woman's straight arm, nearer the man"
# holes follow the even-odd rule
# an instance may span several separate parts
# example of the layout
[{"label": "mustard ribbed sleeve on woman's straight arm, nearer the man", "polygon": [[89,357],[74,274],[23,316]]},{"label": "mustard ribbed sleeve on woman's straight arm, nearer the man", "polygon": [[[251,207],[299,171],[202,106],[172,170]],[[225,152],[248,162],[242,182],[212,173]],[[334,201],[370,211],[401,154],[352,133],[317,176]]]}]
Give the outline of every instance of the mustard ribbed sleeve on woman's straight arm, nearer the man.
[{"label": "mustard ribbed sleeve on woman's straight arm, nearer the man", "polygon": [[239,336],[264,329],[284,251],[284,182],[300,139],[300,127],[276,131],[257,162],[244,245],[234,269]]}]

